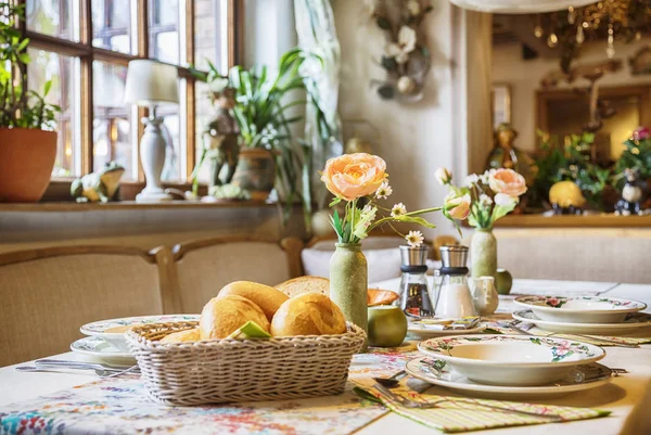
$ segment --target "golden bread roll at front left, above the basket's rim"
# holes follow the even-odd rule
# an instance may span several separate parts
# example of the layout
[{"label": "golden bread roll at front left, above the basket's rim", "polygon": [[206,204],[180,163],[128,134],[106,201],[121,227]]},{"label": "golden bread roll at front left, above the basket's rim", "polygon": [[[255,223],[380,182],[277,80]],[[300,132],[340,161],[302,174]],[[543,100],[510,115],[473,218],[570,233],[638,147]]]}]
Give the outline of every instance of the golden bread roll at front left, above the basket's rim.
[{"label": "golden bread roll at front left, above the basket's rim", "polygon": [[213,297],[199,319],[201,340],[226,338],[250,320],[269,332],[267,316],[250,299],[238,295]]}]

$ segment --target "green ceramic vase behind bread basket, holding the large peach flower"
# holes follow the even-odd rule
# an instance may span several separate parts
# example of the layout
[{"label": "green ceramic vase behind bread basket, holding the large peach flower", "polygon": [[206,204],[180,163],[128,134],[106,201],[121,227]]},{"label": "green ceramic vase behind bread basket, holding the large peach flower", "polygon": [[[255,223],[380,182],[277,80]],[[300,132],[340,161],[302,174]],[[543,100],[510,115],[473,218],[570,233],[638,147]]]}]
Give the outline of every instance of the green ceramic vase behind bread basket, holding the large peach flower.
[{"label": "green ceramic vase behind bread basket, holding the large peach flower", "polygon": [[[336,243],[330,258],[330,298],[347,321],[368,333],[368,265],[360,243]],[[362,350],[366,350],[365,343]]]}]

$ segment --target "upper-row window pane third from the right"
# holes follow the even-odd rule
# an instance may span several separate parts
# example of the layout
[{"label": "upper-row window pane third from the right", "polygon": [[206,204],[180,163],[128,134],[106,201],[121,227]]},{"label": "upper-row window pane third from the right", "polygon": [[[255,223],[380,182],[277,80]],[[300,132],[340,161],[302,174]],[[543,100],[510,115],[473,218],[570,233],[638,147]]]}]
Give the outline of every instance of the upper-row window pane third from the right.
[{"label": "upper-row window pane third from the right", "polygon": [[92,0],[91,7],[93,47],[133,54],[129,0]]}]

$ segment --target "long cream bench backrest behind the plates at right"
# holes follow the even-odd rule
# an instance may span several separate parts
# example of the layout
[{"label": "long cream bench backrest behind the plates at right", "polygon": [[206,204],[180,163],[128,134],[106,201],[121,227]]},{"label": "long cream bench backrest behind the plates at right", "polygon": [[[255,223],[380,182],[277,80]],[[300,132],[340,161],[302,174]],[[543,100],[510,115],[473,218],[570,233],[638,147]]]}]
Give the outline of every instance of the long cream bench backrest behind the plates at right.
[{"label": "long cream bench backrest behind the plates at right", "polygon": [[514,278],[651,282],[646,229],[498,228],[495,235],[498,267]]}]

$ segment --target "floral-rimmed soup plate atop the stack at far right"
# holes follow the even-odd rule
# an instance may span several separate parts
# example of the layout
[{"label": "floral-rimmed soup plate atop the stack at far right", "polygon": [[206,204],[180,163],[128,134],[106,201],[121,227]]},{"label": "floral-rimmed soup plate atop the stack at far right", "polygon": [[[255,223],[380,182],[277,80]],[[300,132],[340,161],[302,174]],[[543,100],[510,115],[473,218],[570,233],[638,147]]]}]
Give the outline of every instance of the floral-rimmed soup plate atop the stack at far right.
[{"label": "floral-rimmed soup plate atop the stack at far right", "polygon": [[519,296],[514,303],[540,320],[571,323],[620,323],[647,304],[605,296]]}]

